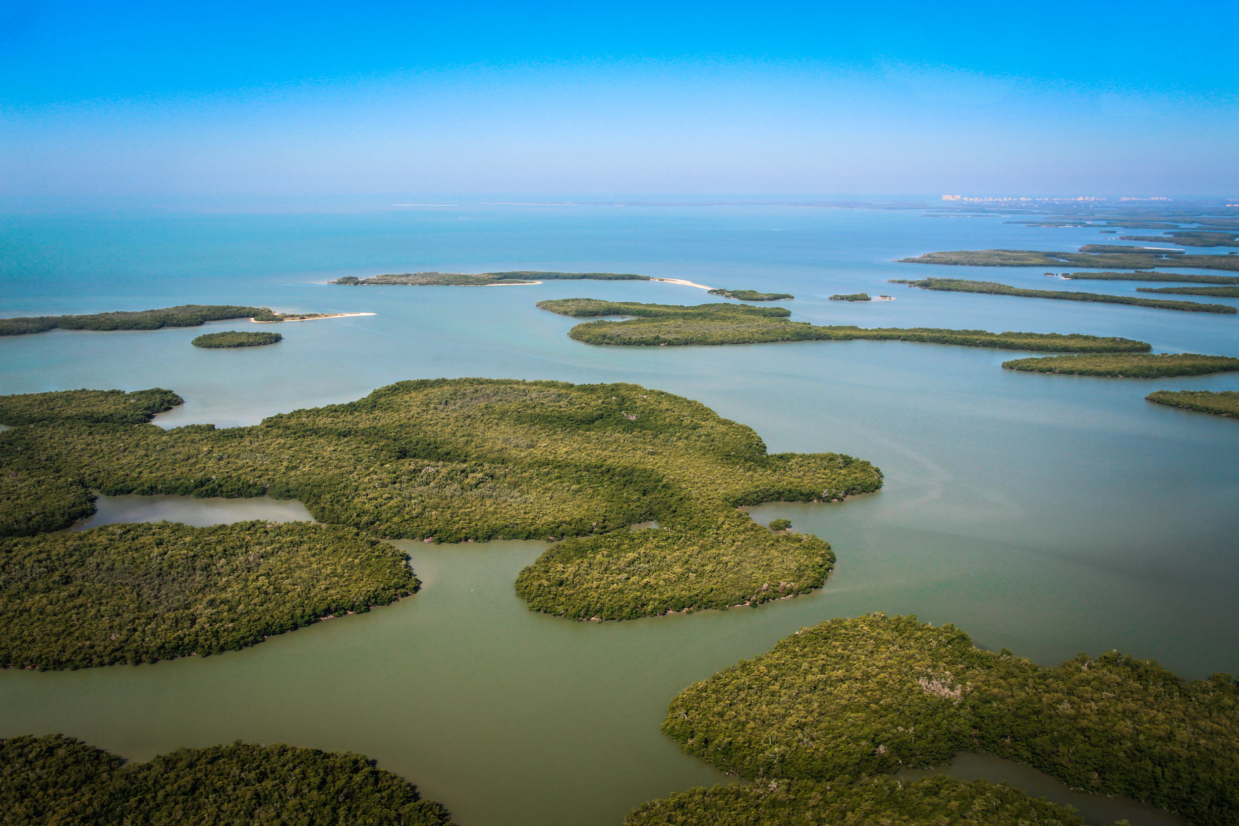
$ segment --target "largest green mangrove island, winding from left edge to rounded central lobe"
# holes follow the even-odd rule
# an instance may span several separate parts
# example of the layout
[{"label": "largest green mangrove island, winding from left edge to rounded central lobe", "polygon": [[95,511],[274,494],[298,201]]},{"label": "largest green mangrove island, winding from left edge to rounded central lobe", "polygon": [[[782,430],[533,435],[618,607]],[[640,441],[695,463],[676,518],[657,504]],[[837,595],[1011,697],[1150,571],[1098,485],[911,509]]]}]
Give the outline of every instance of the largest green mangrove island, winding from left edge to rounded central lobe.
[{"label": "largest green mangrove island, winding from left edge to rounded central lobe", "polygon": [[[33,409],[41,395],[11,404]],[[84,410],[55,399],[63,419],[48,412],[0,433],[2,478],[57,493],[0,500],[10,534],[71,524],[92,488],[269,492],[300,499],[320,521],[384,537],[575,537],[518,583],[530,607],[566,617],[722,608],[817,587],[834,562],[829,545],[771,534],[736,508],[882,484],[867,462],[771,454],[751,428],[632,384],[401,381],[228,430],[83,424],[93,396],[81,398]],[[649,520],[660,528],[628,530]]]}]

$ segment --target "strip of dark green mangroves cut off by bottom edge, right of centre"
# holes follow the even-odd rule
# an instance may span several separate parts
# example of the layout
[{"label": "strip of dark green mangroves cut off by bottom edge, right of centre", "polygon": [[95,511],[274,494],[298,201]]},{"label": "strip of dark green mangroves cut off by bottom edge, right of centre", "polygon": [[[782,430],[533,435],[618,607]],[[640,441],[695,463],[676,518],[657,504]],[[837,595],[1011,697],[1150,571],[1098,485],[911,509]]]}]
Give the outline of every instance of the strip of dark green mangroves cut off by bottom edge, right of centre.
[{"label": "strip of dark green mangroves cut off by bottom edge, right of centre", "polygon": [[689,789],[633,809],[624,826],[1084,826],[1062,806],[986,780],[774,780]]}]

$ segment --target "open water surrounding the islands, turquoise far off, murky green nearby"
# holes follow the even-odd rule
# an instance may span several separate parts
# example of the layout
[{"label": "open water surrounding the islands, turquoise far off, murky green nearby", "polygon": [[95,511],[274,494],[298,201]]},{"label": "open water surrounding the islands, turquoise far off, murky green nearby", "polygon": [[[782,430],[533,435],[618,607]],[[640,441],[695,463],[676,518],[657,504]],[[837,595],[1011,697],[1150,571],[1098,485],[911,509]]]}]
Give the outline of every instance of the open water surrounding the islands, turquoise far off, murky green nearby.
[{"label": "open water surrounding the islands, turquoise far off, murky green nearby", "polygon": [[[426,587],[390,608],[203,661],[0,674],[0,736],[61,731],[135,759],[237,737],[351,748],[467,826],[616,824],[643,800],[720,779],[658,732],[676,691],[836,615],[954,622],[1042,664],[1118,648],[1189,677],[1239,671],[1239,422],[1144,401],[1155,389],[1235,390],[1239,374],[1016,374],[999,365],[1017,354],[902,342],[595,348],[534,302],[711,297],[648,282],[323,284],[432,269],[631,271],[793,292],[783,306],[814,323],[1083,332],[1239,355],[1234,316],[885,282],[959,275],[1135,295],[1134,284],[1064,282],[1041,269],[891,261],[1073,249],[1105,238],[1095,230],[917,211],[463,207],[17,215],[2,232],[4,315],[186,302],[378,315],[284,324],[280,344],[243,350],[191,347],[203,328],[0,338],[0,393],[157,385],[186,399],[159,424],[227,426],[408,378],[634,381],[753,426],[772,451],[870,459],[886,488],[755,509],[835,547],[835,575],[809,597],[575,624],[530,614],[512,593],[545,545],[416,544]],[[897,301],[826,300],[860,290]]]}]

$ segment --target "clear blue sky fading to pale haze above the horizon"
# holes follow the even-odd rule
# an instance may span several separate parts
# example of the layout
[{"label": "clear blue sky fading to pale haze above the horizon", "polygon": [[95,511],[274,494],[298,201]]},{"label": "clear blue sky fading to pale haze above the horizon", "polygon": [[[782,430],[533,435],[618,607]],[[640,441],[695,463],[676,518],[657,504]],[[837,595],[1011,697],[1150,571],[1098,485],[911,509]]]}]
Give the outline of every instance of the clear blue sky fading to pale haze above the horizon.
[{"label": "clear blue sky fading to pale haze above the horizon", "polygon": [[11,194],[1239,194],[1239,4],[0,0]]}]

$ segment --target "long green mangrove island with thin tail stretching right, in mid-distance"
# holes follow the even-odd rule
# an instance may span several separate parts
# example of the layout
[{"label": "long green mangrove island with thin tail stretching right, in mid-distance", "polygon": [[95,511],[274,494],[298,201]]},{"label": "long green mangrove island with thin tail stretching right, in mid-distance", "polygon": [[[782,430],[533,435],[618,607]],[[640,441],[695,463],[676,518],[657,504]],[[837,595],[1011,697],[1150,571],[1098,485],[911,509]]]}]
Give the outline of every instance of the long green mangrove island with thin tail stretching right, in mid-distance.
[{"label": "long green mangrove island with thin tail stretching right, in mid-distance", "polygon": [[900,327],[815,327],[808,322],[787,321],[792,313],[783,307],[752,307],[748,305],[706,303],[685,307],[638,303],[636,301],[556,298],[539,301],[538,306],[550,312],[575,317],[636,316],[631,321],[596,321],[577,324],[569,331],[569,336],[586,344],[667,347],[865,338],[1057,353],[1123,353],[1150,349],[1145,342],[1134,342],[1129,338],[1101,338],[1078,333],[1064,336],[1061,333],[990,333],[984,329],[937,329],[933,327],[907,329]]}]

